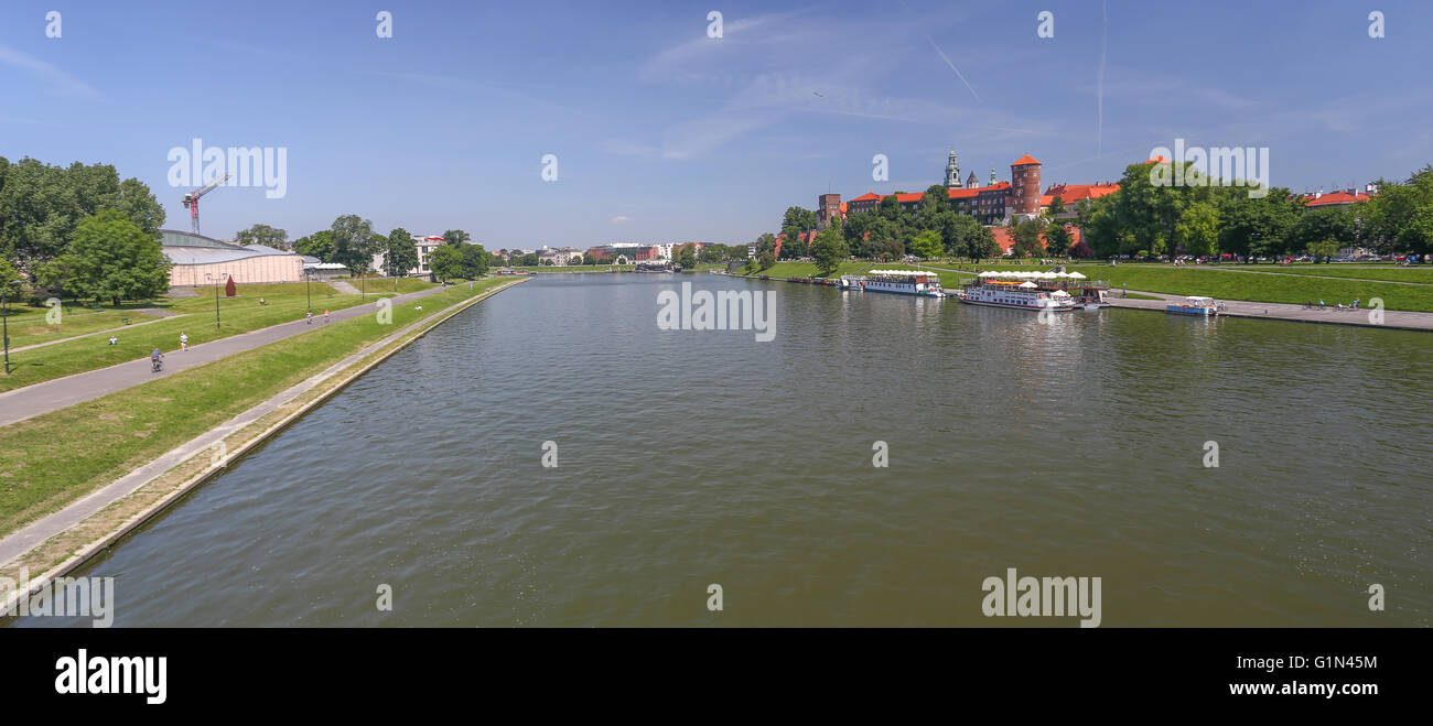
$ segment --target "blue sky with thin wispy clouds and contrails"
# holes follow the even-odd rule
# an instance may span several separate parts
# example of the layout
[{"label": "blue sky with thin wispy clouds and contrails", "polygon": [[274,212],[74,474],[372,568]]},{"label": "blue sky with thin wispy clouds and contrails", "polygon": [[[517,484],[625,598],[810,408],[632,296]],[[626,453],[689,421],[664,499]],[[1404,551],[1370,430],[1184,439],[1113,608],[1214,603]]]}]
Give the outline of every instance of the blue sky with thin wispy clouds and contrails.
[{"label": "blue sky with thin wispy clouds and contrails", "polygon": [[282,199],[203,199],[221,238],[358,213],[489,248],[749,242],[828,188],[940,183],[950,149],[982,183],[1025,153],[1113,180],[1176,137],[1267,146],[1295,190],[1401,179],[1433,162],[1430,47],[1422,0],[7,0],[0,156],[113,163],[188,229],[172,147],[287,149]]}]

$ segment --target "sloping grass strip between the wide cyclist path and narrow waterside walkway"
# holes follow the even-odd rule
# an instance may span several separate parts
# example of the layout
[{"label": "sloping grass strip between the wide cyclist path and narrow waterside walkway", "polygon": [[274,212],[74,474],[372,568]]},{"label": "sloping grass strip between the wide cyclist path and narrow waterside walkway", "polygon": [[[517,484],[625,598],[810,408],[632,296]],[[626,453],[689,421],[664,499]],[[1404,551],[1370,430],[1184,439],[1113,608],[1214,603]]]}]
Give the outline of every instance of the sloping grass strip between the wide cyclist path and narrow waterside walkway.
[{"label": "sloping grass strip between the wide cyclist path and narrow waterside walkway", "polygon": [[59,510],[344,357],[514,279],[483,279],[0,428],[0,534]]}]

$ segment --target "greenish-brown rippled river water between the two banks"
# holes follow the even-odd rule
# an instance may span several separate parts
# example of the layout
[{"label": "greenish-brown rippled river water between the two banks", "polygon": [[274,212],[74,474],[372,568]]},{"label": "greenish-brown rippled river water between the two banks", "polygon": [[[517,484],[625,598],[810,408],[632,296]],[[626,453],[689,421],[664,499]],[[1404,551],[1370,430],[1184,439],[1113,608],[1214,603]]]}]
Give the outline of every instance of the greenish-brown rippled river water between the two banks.
[{"label": "greenish-brown rippled river water between the two banks", "polygon": [[[682,281],[775,292],[774,339],[659,329]],[[539,276],[76,574],[115,577],[116,626],[1078,626],[984,616],[1007,568],[1099,577],[1105,627],[1429,626],[1430,352],[1406,331]]]}]

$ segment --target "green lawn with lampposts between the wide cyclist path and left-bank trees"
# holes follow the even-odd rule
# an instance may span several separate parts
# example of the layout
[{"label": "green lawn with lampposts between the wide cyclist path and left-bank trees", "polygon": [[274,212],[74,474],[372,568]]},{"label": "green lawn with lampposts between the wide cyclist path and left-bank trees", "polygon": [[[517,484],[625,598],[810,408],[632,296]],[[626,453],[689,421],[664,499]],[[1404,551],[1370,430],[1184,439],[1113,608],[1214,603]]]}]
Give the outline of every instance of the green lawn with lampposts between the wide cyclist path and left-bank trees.
[{"label": "green lawn with lampposts between the wide cyclist path and left-bank trees", "polygon": [[[424,285],[434,286],[433,284]],[[398,289],[400,292],[403,289],[401,281]],[[203,292],[203,288],[201,288],[201,292]],[[211,296],[201,295],[198,298],[160,301],[160,305],[156,306],[182,314],[182,316],[119,331],[115,334],[119,338],[118,345],[109,345],[107,335],[92,335],[77,341],[11,352],[11,374],[9,377],[0,375],[0,391],[11,391],[64,375],[133,361],[149,355],[149,351],[155,348],[173,351],[179,348],[181,334],[189,335],[189,345],[199,345],[218,338],[297,321],[308,311],[310,291],[305,291],[302,282],[248,285],[239,288],[239,296],[219,298],[219,326],[215,326],[212,288],[209,292]],[[322,315],[325,309],[342,309],[360,305],[370,298],[391,296],[393,289],[368,295],[341,295],[334,292],[327,284],[315,282],[312,284],[311,295],[314,314]],[[259,298],[264,298],[268,304],[259,305]],[[130,322],[138,322],[140,318],[133,312],[128,315],[130,316]],[[83,316],[77,318],[77,321],[85,319]],[[43,321],[43,312],[32,312],[29,322],[23,325],[29,325],[32,331],[43,328],[44,332],[30,332],[24,337],[16,335],[16,324],[11,321],[10,345],[29,345],[30,342],[69,338],[85,332],[83,329],[72,332],[69,318],[62,318],[57,326],[44,325]]]}]

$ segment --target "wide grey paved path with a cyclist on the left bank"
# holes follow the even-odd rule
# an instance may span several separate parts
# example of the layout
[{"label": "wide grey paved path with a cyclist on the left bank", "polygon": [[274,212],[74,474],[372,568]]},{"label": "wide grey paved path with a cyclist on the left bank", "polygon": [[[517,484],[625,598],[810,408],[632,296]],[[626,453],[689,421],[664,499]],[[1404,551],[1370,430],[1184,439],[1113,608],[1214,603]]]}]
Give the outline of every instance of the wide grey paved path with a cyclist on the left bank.
[{"label": "wide grey paved path with a cyclist on the left bank", "polygon": [[[385,299],[393,301],[394,305],[401,305],[443,292],[444,289],[447,288],[428,288]],[[334,322],[347,321],[360,315],[373,315],[374,312],[375,308],[373,305],[354,305],[353,308],[334,311],[332,319]],[[149,369],[149,357],[146,355],[109,368],[99,368],[16,388],[14,391],[0,394],[0,425],[10,425],[16,421],[24,421],[30,417],[123,391],[132,385],[145,384],[179,371],[188,371],[189,368],[211,364],[234,354],[252,351],[261,345],[302,335],[322,325],[325,325],[324,312],[318,311],[314,314],[312,324],[307,324],[304,319],[281,322],[269,328],[229,335],[228,338],[219,338],[202,345],[191,345],[188,351],[165,351],[165,369],[158,374]]]}]

